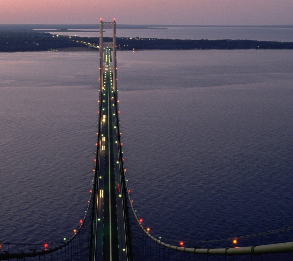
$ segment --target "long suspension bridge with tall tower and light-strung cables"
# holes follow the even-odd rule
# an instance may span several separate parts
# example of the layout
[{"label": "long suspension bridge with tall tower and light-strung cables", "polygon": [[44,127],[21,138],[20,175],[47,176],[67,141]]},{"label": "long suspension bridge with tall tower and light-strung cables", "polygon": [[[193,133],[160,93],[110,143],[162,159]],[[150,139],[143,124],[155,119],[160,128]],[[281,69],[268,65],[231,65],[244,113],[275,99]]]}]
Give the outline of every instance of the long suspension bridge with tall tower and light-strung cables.
[{"label": "long suspension bridge with tall tower and light-strung cables", "polygon": [[[104,28],[113,29],[110,41],[103,41]],[[292,237],[293,227],[237,238],[190,242],[151,233],[137,215],[130,197],[121,149],[118,104],[116,21],[100,19],[97,149],[85,215],[78,229],[60,241],[45,244],[0,242],[0,260],[199,260],[202,255],[207,260],[210,257],[215,260],[215,256],[219,257],[217,260],[229,260],[234,255],[249,255],[252,260],[264,254],[293,252],[292,241],[262,244],[264,237],[276,233],[289,233]],[[239,247],[238,240],[247,242],[247,246]]]}]

